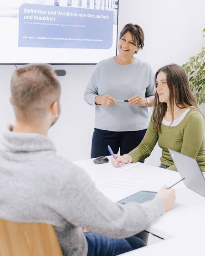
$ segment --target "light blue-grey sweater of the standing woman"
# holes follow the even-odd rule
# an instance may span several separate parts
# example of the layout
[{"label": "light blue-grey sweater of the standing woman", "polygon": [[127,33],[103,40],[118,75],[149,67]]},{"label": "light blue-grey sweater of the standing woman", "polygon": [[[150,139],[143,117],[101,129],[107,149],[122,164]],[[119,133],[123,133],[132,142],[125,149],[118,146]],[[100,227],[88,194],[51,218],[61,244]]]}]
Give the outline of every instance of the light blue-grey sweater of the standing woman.
[{"label": "light blue-grey sweater of the standing woman", "polygon": [[127,100],[134,95],[154,96],[154,74],[149,64],[135,59],[121,65],[113,57],[100,61],[88,82],[84,100],[95,105],[95,128],[108,131],[138,131],[148,127],[147,107],[116,102],[110,107],[95,104],[97,95],[110,95],[117,100]]}]

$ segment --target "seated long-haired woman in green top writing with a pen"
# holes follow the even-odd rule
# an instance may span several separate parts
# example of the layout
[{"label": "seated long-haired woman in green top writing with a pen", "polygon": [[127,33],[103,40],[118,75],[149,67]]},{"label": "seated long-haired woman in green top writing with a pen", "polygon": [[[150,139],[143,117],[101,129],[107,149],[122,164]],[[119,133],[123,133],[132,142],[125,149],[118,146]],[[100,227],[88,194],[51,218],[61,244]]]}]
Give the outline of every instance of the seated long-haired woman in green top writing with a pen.
[{"label": "seated long-haired woman in green top writing with a pen", "polygon": [[113,166],[147,158],[158,141],[162,168],[177,171],[168,149],[195,158],[205,171],[204,116],[190,91],[187,75],[179,65],[170,64],[155,75],[154,112],[142,142],[128,154],[112,157]]}]

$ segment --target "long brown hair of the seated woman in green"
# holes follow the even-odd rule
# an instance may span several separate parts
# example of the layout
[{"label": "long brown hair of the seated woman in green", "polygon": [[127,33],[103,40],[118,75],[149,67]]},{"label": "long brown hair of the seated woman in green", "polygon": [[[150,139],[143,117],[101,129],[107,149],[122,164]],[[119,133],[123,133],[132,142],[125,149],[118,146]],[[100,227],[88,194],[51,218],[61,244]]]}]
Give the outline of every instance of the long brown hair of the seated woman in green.
[{"label": "long brown hair of the seated woman in green", "polygon": [[[156,88],[156,79],[159,72],[164,72],[167,77],[167,85],[169,87],[169,105],[171,107],[170,110],[172,122],[174,120],[174,101],[176,106],[181,109],[189,107],[200,111],[197,107],[195,97],[190,90],[190,85],[185,70],[182,69],[182,67],[177,64],[170,64],[158,69],[154,77]],[[161,123],[166,110],[167,103],[160,102],[158,93],[156,92],[154,98],[153,120],[154,127],[157,129],[158,132],[160,132]]]}]

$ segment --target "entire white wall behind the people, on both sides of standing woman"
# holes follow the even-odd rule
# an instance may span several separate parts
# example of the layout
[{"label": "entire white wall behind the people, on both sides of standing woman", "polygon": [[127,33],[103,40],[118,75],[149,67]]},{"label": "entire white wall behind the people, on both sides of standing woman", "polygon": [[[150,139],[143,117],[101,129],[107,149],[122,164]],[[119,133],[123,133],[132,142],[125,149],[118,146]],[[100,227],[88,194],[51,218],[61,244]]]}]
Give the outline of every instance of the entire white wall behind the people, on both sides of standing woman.
[{"label": "entire white wall behind the people, on both sides of standing woman", "polygon": [[[128,23],[139,24],[145,33],[145,46],[138,58],[149,62],[154,72],[165,64],[183,64],[203,46],[204,0],[119,0],[119,31]],[[55,66],[66,69],[62,84],[62,115],[51,128],[58,153],[70,160],[90,157],[94,129],[94,107],[83,101],[93,65]],[[15,66],[0,66],[0,133],[14,123],[9,104],[10,77]],[[159,165],[159,149],[147,163]]]}]

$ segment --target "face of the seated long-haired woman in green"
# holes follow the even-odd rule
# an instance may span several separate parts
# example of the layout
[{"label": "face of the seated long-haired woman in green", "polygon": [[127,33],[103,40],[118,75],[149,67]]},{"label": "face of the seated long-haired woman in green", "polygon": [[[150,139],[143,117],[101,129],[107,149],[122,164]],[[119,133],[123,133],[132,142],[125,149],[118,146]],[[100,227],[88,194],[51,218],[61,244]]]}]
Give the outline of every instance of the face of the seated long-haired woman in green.
[{"label": "face of the seated long-haired woman in green", "polygon": [[167,76],[163,71],[160,71],[156,78],[156,91],[160,102],[169,101],[169,87],[167,85]]}]

